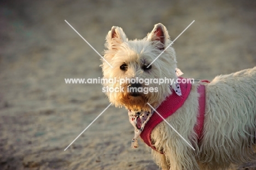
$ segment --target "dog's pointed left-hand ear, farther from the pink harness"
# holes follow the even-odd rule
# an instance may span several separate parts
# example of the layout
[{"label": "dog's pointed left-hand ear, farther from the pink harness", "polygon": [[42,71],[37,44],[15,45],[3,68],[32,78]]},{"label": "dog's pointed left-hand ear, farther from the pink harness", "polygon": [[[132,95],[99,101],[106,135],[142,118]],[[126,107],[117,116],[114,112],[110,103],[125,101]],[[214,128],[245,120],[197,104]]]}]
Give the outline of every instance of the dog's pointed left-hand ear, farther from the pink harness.
[{"label": "dog's pointed left-hand ear, farther from the pink harness", "polygon": [[106,48],[117,50],[117,46],[127,40],[122,28],[113,26],[106,37]]}]

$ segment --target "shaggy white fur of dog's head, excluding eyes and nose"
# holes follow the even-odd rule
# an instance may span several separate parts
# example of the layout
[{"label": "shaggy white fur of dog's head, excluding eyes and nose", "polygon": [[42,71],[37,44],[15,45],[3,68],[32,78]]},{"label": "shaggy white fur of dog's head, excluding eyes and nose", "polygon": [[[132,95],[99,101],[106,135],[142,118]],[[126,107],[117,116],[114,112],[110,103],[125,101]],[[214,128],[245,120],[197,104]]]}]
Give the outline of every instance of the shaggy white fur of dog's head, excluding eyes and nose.
[{"label": "shaggy white fur of dog's head, excluding eyes and nose", "polygon": [[[155,31],[157,28],[162,29],[164,37],[164,44],[157,39]],[[125,78],[174,78],[177,79],[175,68],[176,68],[176,57],[175,51],[172,47],[166,49],[164,54],[158,58],[157,62],[154,62],[152,69],[145,71],[143,70],[144,65],[149,65],[161,52],[160,47],[164,45],[164,48],[171,43],[169,40],[168,32],[166,28],[159,24],[156,25],[152,33],[142,40],[128,41],[125,33],[119,27],[112,27],[112,30],[108,32],[106,37],[107,43],[104,58],[113,66],[111,68],[106,62],[102,60],[102,71],[103,78],[107,79],[125,79]],[[127,65],[127,71],[121,71],[120,66],[123,64]],[[174,68],[175,67],[175,68]],[[171,69],[174,68],[174,69]],[[125,87],[125,92],[110,93],[107,92],[109,101],[114,103],[116,107],[125,106],[127,109],[138,109],[138,110],[150,110],[150,103],[154,107],[159,104],[160,101],[171,94],[170,85],[168,84],[150,84],[148,87],[157,87],[157,93],[148,93],[148,95],[142,95],[139,97],[129,97],[126,91],[127,83],[124,83],[122,87]],[[103,84],[108,87],[119,87],[119,83],[115,84]],[[175,84],[172,85],[174,87]],[[143,87],[145,87],[143,85]]]}]

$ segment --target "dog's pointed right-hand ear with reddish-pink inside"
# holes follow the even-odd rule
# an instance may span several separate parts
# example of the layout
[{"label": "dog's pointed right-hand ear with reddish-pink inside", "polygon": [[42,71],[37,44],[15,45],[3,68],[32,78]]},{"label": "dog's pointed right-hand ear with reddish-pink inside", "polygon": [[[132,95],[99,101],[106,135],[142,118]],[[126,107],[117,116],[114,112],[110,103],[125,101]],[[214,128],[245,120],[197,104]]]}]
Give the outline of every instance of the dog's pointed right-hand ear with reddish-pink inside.
[{"label": "dog's pointed right-hand ear with reddish-pink inside", "polygon": [[166,27],[161,23],[156,24],[151,33],[148,34],[148,39],[152,42],[159,41],[158,49],[164,50],[166,48],[167,40],[169,38]]}]

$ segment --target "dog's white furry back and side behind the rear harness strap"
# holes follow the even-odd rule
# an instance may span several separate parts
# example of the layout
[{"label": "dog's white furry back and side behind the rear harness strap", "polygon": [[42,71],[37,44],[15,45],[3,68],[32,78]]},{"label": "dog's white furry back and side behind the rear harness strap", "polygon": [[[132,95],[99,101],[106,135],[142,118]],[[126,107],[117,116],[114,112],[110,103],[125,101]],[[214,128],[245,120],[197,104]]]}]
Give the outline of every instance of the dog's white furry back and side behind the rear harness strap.
[{"label": "dog's white furry back and side behind the rear harness strap", "polygon": [[255,119],[256,67],[220,75],[207,84],[200,146],[200,162],[206,162],[204,169],[255,160]]}]

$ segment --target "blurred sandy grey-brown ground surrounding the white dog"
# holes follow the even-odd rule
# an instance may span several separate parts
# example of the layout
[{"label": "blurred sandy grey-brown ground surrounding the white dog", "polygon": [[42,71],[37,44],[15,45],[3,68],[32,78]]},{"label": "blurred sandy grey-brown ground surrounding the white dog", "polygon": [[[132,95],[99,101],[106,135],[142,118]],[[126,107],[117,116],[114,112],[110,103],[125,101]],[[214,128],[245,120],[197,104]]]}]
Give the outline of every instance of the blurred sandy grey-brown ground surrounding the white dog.
[{"label": "blurred sandy grey-brown ground surrounding the white dog", "polygon": [[[211,80],[256,65],[256,1],[1,1],[0,169],[158,169],[150,151],[130,148],[125,109],[106,112],[100,56],[110,28],[130,39],[164,24],[184,77]],[[247,163],[239,169],[256,169]]]}]

